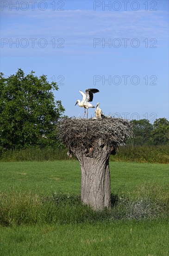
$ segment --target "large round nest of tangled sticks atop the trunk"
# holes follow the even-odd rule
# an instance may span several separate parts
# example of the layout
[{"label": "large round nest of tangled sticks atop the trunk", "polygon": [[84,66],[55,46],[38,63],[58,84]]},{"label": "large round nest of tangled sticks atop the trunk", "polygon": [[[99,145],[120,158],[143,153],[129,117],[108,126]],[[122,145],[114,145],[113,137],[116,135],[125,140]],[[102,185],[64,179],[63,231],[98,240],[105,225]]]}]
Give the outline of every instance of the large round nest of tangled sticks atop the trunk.
[{"label": "large round nest of tangled sticks atop the trunk", "polygon": [[58,131],[58,139],[70,151],[73,148],[94,148],[100,140],[109,147],[117,148],[133,135],[131,123],[121,118],[63,118]]}]

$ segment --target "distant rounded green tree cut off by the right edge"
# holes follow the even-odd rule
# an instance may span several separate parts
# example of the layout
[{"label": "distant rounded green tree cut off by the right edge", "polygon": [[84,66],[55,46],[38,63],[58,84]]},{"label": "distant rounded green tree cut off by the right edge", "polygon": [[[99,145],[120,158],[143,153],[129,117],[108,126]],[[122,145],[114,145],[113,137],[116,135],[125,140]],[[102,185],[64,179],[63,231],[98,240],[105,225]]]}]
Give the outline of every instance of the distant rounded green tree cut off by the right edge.
[{"label": "distant rounded green tree cut off by the right edge", "polygon": [[154,121],[152,137],[155,145],[169,143],[169,121],[166,118],[158,118]]}]

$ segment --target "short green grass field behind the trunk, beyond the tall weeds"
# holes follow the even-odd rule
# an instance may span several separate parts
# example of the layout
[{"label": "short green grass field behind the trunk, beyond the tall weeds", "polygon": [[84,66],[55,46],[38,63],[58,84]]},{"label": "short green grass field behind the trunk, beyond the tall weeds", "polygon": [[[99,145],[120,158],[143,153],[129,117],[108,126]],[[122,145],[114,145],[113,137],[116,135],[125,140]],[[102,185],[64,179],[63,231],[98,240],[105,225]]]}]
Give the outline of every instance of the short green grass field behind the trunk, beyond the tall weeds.
[{"label": "short green grass field behind the trunk, beyond the tall weeds", "polygon": [[[17,189],[42,195],[81,193],[81,168],[77,161],[1,162],[1,190]],[[110,162],[112,192],[130,193],[149,182],[168,185],[168,164]]]}]

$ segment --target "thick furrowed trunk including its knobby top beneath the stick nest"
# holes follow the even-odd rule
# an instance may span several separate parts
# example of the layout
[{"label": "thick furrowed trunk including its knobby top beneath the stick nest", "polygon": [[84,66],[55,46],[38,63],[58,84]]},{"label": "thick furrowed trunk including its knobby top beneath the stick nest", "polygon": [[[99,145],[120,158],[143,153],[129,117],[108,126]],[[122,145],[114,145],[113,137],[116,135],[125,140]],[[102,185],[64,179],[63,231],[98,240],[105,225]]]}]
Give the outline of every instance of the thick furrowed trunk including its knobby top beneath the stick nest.
[{"label": "thick furrowed trunk including its knobby top beneath the stick nest", "polygon": [[85,154],[74,151],[81,165],[81,201],[95,210],[111,207],[110,153],[106,146],[90,148]]}]

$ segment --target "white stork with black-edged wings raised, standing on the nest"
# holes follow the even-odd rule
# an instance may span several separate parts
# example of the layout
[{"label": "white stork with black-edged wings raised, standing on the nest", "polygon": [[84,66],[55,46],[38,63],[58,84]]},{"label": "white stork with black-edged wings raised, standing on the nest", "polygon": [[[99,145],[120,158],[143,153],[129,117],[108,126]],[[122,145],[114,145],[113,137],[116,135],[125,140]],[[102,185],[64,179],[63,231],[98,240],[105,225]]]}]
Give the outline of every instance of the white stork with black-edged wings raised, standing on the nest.
[{"label": "white stork with black-edged wings raised, standing on the nest", "polygon": [[[98,89],[86,89],[85,93],[83,93],[82,91],[79,91],[79,92],[81,93],[83,98],[82,98],[82,101],[77,100],[75,105],[78,104],[79,107],[81,107],[81,108],[84,107],[84,109],[85,109],[84,116],[86,114],[86,109],[87,109],[87,118],[88,118],[88,108],[95,108],[89,102],[93,101],[93,97],[94,97],[93,94],[98,93],[99,90]],[[84,116],[83,116],[83,118],[84,118]]]}]

